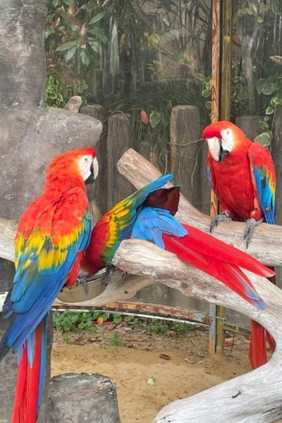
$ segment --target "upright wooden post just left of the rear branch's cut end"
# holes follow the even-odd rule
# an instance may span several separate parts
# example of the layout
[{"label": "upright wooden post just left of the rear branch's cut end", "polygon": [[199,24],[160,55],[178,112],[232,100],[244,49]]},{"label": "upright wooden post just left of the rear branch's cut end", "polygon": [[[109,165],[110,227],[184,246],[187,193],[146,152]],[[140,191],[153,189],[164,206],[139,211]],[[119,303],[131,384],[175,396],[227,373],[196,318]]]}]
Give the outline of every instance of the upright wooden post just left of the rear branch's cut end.
[{"label": "upright wooden post just left of the rear branch's cut end", "polygon": [[110,209],[118,201],[133,191],[132,185],[118,173],[116,162],[130,147],[131,127],[127,116],[116,114],[108,120],[108,134],[106,139],[107,151],[107,180],[108,207]]}]

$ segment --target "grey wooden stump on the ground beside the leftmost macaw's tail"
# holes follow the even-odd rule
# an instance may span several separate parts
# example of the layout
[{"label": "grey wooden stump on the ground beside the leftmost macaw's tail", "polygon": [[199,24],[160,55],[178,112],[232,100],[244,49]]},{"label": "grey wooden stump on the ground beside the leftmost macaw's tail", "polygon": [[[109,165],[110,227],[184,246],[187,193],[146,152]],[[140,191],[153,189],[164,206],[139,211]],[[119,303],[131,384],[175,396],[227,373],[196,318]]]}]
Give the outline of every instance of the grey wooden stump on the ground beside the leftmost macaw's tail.
[{"label": "grey wooden stump on the ground beside the leftmost macaw's tail", "polygon": [[54,376],[44,423],[119,423],[116,384],[108,376],[67,373]]}]

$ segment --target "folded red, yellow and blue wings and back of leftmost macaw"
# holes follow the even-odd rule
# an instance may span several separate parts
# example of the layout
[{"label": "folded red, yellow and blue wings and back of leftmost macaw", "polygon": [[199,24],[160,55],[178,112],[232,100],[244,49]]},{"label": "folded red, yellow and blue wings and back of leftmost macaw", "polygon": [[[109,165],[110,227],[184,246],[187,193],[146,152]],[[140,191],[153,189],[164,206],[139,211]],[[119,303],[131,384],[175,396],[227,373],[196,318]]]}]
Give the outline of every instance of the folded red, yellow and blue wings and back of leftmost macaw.
[{"label": "folded red, yellow and blue wings and back of leftmost macaw", "polygon": [[87,247],[92,229],[87,207],[85,192],[73,188],[59,201],[39,197],[20,219],[16,274],[4,305],[4,316],[14,315],[5,336],[8,348],[18,350],[49,312],[75,257]]}]

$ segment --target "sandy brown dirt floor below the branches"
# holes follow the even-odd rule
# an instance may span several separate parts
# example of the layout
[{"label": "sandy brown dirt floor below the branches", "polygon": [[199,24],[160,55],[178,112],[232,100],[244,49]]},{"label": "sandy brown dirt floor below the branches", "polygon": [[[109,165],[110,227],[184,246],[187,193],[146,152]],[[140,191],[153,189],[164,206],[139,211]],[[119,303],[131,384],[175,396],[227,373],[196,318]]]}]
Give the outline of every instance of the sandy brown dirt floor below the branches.
[{"label": "sandy brown dirt floor below the branches", "polygon": [[110,376],[116,381],[121,423],[132,423],[132,416],[136,423],[151,423],[167,403],[250,370],[247,337],[230,334],[224,356],[209,356],[207,348],[207,331],[200,329],[183,337],[123,324],[97,326],[94,334],[79,337],[55,331],[51,371]]}]

